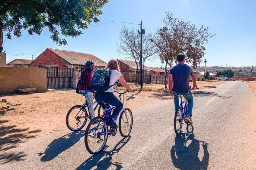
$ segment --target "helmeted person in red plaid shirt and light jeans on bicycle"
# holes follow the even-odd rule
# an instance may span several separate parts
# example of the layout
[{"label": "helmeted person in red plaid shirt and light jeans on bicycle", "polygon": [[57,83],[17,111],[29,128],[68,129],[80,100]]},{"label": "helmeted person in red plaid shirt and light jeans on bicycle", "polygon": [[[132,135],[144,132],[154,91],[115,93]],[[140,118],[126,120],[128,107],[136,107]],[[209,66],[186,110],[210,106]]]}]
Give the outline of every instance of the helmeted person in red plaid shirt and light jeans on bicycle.
[{"label": "helmeted person in red plaid shirt and light jeans on bicycle", "polygon": [[92,79],[92,71],[94,69],[94,62],[91,60],[86,61],[85,69],[81,73],[81,79],[83,84],[78,86],[78,90],[80,94],[84,94],[89,111],[91,113],[91,119],[95,117],[94,108],[93,108],[93,93],[94,90],[91,89],[91,79]]}]

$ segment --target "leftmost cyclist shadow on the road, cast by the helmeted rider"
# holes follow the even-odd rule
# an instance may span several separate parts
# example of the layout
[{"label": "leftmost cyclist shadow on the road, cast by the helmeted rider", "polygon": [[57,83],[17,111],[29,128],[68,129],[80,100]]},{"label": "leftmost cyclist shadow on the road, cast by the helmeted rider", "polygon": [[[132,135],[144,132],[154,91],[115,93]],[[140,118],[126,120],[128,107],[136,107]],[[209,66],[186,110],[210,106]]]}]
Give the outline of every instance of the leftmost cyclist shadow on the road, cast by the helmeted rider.
[{"label": "leftmost cyclist shadow on the road, cast by the helmeted rider", "polygon": [[39,156],[41,157],[41,161],[46,162],[50,161],[56,156],[58,156],[60,153],[63,151],[69,149],[72,147],[74,144],[76,144],[80,139],[84,136],[85,131],[77,131],[77,132],[72,132],[69,134],[66,134],[58,139],[54,139],[45,149],[43,153],[38,153]]}]

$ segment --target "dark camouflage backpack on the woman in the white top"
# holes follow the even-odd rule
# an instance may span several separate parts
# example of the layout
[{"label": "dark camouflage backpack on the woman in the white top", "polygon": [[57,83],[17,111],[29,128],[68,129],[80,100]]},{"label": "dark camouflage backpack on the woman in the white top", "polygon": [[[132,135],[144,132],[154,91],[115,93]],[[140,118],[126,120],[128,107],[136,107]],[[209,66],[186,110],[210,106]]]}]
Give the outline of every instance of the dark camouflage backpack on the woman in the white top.
[{"label": "dark camouflage backpack on the woman in the white top", "polygon": [[94,71],[94,75],[91,80],[91,88],[95,91],[107,91],[113,85],[109,85],[111,76],[110,69],[98,68]]}]

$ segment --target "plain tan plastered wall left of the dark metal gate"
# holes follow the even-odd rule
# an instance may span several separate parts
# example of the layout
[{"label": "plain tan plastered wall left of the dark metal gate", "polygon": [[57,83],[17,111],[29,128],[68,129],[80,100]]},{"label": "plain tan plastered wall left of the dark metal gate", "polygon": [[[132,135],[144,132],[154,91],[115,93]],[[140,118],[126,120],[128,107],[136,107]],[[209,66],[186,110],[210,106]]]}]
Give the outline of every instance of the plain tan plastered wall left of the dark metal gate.
[{"label": "plain tan plastered wall left of the dark metal gate", "polygon": [[46,91],[46,69],[0,67],[0,95],[15,93],[17,88],[36,88]]}]

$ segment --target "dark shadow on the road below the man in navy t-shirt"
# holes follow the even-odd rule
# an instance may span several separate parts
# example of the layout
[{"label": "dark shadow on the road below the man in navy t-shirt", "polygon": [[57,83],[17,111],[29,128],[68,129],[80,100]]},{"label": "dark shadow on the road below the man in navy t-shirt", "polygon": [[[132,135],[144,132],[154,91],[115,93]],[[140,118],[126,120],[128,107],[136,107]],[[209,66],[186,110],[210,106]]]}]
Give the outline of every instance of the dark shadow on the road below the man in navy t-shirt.
[{"label": "dark shadow on the road below the man in navy t-shirt", "polygon": [[[193,128],[193,125],[191,125]],[[209,164],[208,144],[198,141],[192,133],[182,133],[176,136],[175,145],[171,148],[171,159],[176,168],[181,170],[187,169],[207,169]],[[200,143],[203,147],[203,159],[198,157]]]}]

